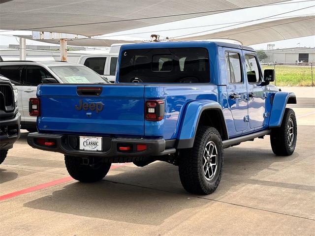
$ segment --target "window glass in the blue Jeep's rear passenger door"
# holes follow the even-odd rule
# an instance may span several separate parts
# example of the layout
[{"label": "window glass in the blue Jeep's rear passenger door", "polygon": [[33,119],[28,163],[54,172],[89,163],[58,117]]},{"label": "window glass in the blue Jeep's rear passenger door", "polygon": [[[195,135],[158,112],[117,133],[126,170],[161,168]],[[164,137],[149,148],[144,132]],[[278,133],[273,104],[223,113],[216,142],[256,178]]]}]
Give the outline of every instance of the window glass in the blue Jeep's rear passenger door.
[{"label": "window glass in the blue Jeep's rear passenger door", "polygon": [[241,60],[238,53],[225,52],[227,79],[230,84],[242,83]]}]

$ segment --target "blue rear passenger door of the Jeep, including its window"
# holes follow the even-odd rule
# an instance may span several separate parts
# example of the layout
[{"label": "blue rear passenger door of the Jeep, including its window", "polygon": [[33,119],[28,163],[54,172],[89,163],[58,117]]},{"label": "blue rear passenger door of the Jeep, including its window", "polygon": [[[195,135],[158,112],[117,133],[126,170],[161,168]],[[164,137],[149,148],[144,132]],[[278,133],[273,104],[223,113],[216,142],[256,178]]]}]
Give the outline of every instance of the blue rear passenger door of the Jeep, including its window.
[{"label": "blue rear passenger door of the Jeep, including its window", "polygon": [[237,49],[228,49],[224,52],[228,105],[237,132],[246,130],[248,123],[247,81],[243,78],[241,55],[242,52]]}]

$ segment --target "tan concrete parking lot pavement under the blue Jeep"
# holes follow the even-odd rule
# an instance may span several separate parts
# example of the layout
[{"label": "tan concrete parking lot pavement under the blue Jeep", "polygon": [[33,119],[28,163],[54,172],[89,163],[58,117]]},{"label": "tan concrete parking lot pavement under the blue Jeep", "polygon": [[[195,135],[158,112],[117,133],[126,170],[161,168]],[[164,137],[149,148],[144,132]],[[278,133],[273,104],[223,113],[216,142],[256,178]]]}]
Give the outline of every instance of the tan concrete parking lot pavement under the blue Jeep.
[{"label": "tan concrete parking lot pavement under the blue Jeep", "polygon": [[227,148],[206,196],[187,193],[164,162],[113,164],[102,181],[80,183],[62,154],[32,149],[22,130],[0,165],[0,235],[314,235],[315,108],[303,104],[292,106],[293,155],[275,156],[269,136]]}]

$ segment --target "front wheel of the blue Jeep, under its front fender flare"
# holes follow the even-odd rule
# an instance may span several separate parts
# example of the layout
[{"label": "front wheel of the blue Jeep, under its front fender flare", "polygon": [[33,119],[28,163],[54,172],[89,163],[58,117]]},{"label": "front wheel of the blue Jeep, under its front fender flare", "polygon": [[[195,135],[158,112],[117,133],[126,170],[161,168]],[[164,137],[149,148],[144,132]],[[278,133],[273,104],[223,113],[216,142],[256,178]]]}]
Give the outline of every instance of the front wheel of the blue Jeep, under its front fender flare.
[{"label": "front wheel of the blue Jeep, under its front fender flare", "polygon": [[294,152],[296,139],[297,125],[295,113],[292,109],[285,108],[281,126],[274,128],[270,135],[272,151],[279,156],[289,156]]}]

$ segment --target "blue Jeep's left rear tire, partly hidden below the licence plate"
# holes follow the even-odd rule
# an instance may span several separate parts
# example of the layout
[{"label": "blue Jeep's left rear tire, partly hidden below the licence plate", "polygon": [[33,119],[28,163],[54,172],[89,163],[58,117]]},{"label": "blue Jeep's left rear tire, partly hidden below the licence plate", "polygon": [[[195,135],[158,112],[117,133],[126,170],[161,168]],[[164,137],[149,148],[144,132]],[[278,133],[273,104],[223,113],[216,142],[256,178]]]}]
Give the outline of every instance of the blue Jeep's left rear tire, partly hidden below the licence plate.
[{"label": "blue Jeep's left rear tire, partly hidden below the licence plate", "polygon": [[98,163],[95,165],[82,165],[82,159],[78,156],[64,155],[65,167],[69,175],[81,182],[96,182],[108,173],[112,163]]}]

